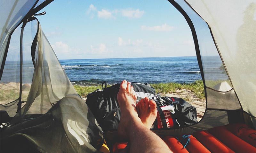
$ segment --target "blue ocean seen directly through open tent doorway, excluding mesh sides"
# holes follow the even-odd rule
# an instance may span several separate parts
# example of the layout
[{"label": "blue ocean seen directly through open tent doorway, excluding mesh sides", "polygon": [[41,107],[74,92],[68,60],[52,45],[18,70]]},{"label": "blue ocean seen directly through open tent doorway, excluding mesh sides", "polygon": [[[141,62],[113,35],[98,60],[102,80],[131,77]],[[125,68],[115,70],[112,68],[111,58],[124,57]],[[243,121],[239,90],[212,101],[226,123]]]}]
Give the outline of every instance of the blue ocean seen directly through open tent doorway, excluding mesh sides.
[{"label": "blue ocean seen directly through open tent doorway, excluding mesh sides", "polygon": [[191,83],[202,80],[196,57],[60,60],[73,84],[122,80],[147,83]]}]

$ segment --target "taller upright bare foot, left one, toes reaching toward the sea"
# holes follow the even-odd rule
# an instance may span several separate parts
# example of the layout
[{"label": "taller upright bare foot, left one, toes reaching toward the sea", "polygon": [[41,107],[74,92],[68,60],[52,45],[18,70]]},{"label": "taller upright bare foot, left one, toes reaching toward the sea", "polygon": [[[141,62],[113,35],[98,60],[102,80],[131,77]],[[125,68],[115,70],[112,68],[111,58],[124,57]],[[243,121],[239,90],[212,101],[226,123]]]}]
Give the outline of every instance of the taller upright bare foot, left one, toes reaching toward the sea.
[{"label": "taller upright bare foot, left one, toes reaching toward the sea", "polygon": [[121,109],[121,117],[117,132],[119,137],[122,139],[127,138],[127,130],[131,129],[129,127],[132,123],[141,122],[135,107],[136,99],[137,96],[131,86],[131,83],[126,80],[122,81],[117,94],[117,101]]}]

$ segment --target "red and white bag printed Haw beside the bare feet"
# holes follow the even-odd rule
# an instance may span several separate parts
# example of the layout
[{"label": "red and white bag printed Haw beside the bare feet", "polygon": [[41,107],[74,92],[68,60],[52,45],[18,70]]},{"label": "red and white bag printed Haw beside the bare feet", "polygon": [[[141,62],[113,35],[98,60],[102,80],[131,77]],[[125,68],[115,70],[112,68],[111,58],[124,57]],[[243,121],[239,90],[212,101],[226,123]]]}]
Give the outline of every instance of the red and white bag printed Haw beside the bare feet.
[{"label": "red and white bag printed Haw beside the bare feet", "polygon": [[156,121],[153,124],[154,129],[168,129],[177,127],[178,122],[172,105],[157,107]]}]

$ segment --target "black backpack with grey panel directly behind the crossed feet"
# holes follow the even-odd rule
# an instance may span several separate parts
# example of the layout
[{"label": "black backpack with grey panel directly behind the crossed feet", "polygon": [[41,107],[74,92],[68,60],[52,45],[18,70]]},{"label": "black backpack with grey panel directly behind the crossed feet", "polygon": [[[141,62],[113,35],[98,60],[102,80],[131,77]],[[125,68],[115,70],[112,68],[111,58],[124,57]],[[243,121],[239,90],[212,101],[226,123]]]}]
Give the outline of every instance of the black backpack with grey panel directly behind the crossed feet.
[{"label": "black backpack with grey panel directly behind the crossed feet", "polygon": [[[105,87],[103,87],[105,85]],[[140,92],[141,96],[153,96],[156,94],[154,88],[148,84],[131,83],[135,92]],[[100,124],[103,131],[110,129],[117,129],[120,122],[121,111],[117,101],[117,93],[119,91],[120,84],[115,84],[111,87],[107,87],[107,83],[102,83],[102,90],[98,89],[87,95],[86,104],[92,111],[96,120]],[[137,102],[145,97],[138,96]]]}]

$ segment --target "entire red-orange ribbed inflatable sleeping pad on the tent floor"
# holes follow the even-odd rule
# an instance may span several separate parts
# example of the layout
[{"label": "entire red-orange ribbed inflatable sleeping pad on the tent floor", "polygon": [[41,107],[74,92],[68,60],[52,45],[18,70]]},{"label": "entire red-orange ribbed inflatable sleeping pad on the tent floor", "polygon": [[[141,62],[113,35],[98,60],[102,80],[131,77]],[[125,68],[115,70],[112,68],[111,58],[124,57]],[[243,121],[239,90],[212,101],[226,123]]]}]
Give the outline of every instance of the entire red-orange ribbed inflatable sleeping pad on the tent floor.
[{"label": "entire red-orange ribbed inflatable sleeping pad on the tent floor", "polygon": [[[228,124],[178,138],[165,136],[163,140],[173,152],[177,153],[256,152],[256,130],[245,124]],[[126,145],[127,143],[115,143],[112,151],[120,152]]]}]

